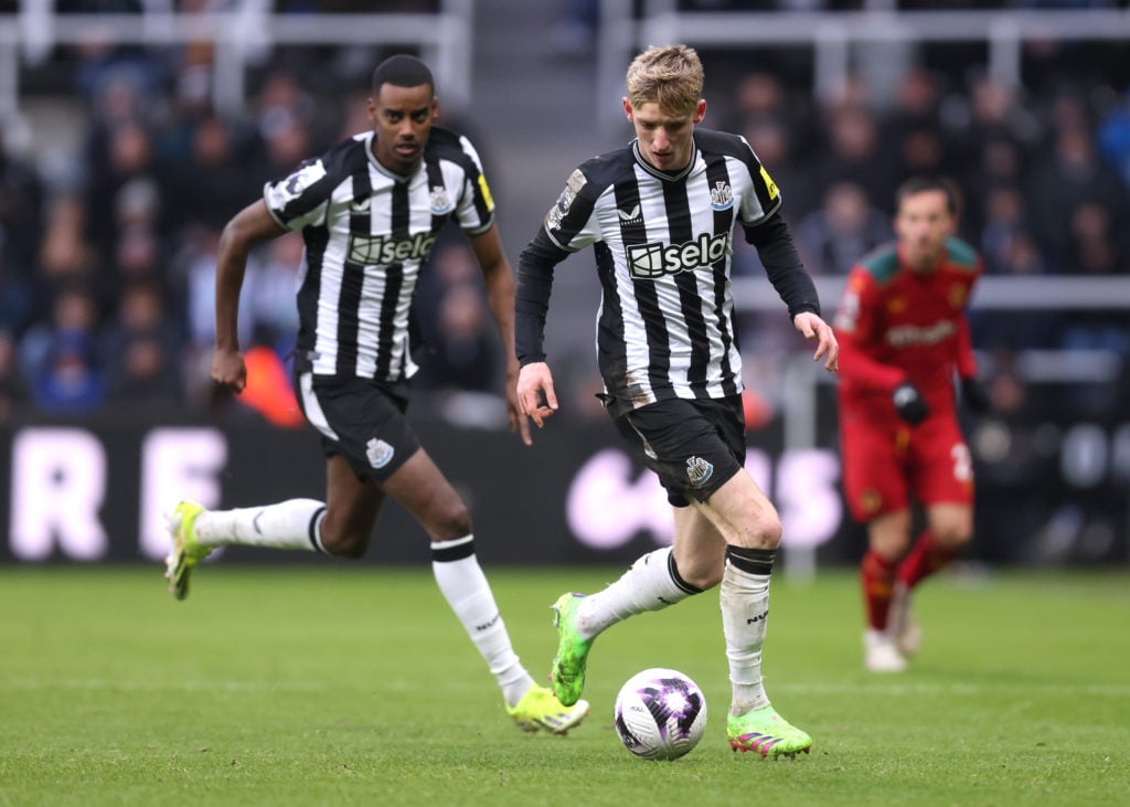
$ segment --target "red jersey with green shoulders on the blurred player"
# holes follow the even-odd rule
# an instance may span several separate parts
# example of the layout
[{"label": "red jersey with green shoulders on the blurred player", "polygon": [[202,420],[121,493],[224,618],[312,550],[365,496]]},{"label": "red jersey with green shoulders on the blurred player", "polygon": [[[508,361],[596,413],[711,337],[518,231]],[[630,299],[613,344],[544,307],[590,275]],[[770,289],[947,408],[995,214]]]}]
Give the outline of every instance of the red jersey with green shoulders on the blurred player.
[{"label": "red jersey with green shoulders on the blurred player", "polygon": [[951,411],[955,370],[976,375],[965,312],[981,272],[976,251],[954,237],[930,272],[914,271],[895,244],[852,267],[834,326],[841,404],[894,416],[890,393],[910,381],[932,413]]}]

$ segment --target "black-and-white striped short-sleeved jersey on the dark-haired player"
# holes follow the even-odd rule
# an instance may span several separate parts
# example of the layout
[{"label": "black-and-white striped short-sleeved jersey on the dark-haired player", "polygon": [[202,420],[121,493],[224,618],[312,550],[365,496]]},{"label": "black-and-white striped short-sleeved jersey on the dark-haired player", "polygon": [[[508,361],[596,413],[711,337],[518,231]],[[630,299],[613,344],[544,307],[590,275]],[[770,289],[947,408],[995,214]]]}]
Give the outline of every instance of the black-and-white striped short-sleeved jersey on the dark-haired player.
[{"label": "black-and-white striped short-sleeved jersey on the dark-haired player", "polygon": [[411,376],[409,312],[420,264],[449,218],[469,234],[494,223],[494,201],[470,141],[433,127],[420,167],[398,176],[373,156],[374,132],[345,140],[263,199],[306,243],[297,350],[315,375]]}]

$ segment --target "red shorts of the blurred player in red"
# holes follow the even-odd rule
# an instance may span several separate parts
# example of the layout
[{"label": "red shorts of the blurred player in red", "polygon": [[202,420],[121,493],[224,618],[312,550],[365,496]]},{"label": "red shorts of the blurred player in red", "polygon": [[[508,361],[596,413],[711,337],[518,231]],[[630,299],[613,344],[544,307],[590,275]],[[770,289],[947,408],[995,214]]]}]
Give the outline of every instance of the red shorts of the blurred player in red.
[{"label": "red shorts of the blurred player in red", "polygon": [[857,521],[921,504],[973,504],[973,462],[957,418],[931,415],[918,426],[864,416],[840,401],[844,497]]}]

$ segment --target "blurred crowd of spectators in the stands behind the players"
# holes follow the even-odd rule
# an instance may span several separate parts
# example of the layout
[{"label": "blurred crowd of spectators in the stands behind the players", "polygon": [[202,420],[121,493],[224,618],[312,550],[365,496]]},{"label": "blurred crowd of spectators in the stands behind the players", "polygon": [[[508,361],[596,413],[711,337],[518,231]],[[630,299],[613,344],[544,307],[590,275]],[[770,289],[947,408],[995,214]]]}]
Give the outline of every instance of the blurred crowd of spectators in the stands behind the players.
[{"label": "blurred crowd of spectators in the stands behind the players", "polygon": [[[60,0],[56,7],[134,5]],[[788,10],[862,5],[772,3]],[[279,11],[368,6],[275,3]],[[429,10],[436,3],[391,6]],[[594,8],[571,3],[563,25],[594,25]],[[810,54],[704,49],[710,123],[754,145],[784,190],[788,218],[814,274],[843,275],[888,240],[896,185],[907,174],[929,172],[959,185],[962,235],[981,249],[990,275],[1130,275],[1127,46],[1106,45],[1120,49],[1119,64],[1119,57],[1095,43],[1042,42],[1026,57],[1019,89],[986,75],[983,52],[977,60],[962,49],[948,55],[941,47],[919,49],[897,64],[889,93],[877,92],[861,72],[826,101],[814,98],[810,68],[801,64]],[[84,109],[80,153],[35,160],[34,148],[5,138],[17,129],[12,121],[0,127],[0,423],[24,406],[54,415],[217,405],[208,364],[220,229],[263,182],[370,128],[364,98],[375,61],[372,52],[354,58],[327,49],[281,50],[249,81],[245,113],[233,118],[209,102],[214,55],[207,44],[147,50],[92,42],[60,49],[56,61],[67,66],[70,83],[62,89]],[[497,141],[489,121],[476,124],[479,138]],[[553,193],[546,189],[547,199]],[[505,208],[506,200],[498,203]],[[296,328],[302,249],[298,236],[287,235],[254,254],[243,293],[241,339],[245,349],[254,348],[249,362],[269,384],[260,410],[279,423],[294,414],[277,401],[289,394],[282,366]],[[759,272],[756,253],[738,249],[738,271]],[[428,346],[420,389],[441,401],[451,391],[498,391],[501,347],[473,257],[455,232],[434,250],[417,314]],[[994,313],[977,320],[975,340],[1009,356],[1024,348],[1094,347],[1128,357],[1128,319],[1125,309],[1057,320]]]}]

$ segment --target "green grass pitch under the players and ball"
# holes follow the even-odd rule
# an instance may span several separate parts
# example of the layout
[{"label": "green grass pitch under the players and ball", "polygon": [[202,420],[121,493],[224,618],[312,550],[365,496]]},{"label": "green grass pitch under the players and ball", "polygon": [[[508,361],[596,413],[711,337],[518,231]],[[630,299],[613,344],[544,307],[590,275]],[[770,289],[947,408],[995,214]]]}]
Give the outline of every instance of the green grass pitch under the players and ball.
[{"label": "green grass pitch under the players and ball", "polygon": [[[549,604],[616,569],[492,569],[544,679]],[[568,737],[524,735],[426,567],[0,570],[0,805],[1130,805],[1130,573],[950,574],[916,599],[911,671],[860,663],[853,571],[774,581],[766,686],[814,737],[725,741],[716,591],[601,636]],[[675,667],[706,736],[643,762],[619,685]]]}]

